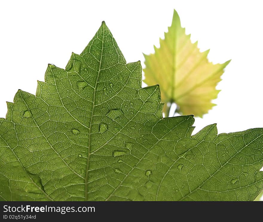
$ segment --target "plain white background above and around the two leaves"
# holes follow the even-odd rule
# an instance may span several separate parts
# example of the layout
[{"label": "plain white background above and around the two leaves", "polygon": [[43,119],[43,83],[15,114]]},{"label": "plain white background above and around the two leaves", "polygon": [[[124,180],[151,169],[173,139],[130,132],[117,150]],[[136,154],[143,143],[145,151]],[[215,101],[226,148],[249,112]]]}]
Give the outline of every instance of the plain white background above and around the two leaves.
[{"label": "plain white background above and around the two leaves", "polygon": [[[196,118],[194,132],[217,123],[218,132],[263,127],[261,1],[1,1],[0,117],[18,89],[35,94],[48,63],[65,68],[105,20],[127,62],[144,61],[178,11],[186,33],[210,61],[232,59],[218,84],[217,104]],[[144,66],[144,65],[143,65]]]}]

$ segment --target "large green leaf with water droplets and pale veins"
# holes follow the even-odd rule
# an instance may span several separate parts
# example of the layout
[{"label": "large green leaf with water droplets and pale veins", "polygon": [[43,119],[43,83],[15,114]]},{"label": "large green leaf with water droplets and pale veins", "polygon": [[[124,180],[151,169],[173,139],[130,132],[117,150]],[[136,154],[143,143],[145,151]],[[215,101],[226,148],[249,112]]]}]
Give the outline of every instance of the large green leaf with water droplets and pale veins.
[{"label": "large green leaf with water droplets and pale veins", "polygon": [[36,96],[18,90],[0,119],[0,199],[253,200],[263,188],[263,129],[192,135],[192,115],[163,118],[103,22]]}]

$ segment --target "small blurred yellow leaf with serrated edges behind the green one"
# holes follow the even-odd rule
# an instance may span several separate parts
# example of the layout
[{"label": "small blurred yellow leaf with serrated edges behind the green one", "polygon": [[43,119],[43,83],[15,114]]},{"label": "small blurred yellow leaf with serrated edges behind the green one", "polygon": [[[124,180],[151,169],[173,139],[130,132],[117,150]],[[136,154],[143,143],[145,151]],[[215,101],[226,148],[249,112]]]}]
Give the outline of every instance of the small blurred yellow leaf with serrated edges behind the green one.
[{"label": "small blurred yellow leaf with serrated edges behind the green one", "polygon": [[160,38],[160,48],[154,46],[155,53],[145,55],[144,82],[148,85],[160,84],[163,112],[169,116],[169,104],[176,103],[176,112],[202,117],[215,104],[215,87],[224,68],[229,64],[212,64],[207,59],[209,50],[200,52],[197,42],[192,44],[190,34],[181,27],[178,13],[174,10],[172,25]]}]

